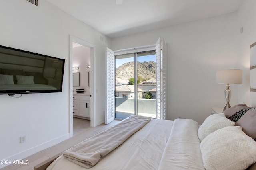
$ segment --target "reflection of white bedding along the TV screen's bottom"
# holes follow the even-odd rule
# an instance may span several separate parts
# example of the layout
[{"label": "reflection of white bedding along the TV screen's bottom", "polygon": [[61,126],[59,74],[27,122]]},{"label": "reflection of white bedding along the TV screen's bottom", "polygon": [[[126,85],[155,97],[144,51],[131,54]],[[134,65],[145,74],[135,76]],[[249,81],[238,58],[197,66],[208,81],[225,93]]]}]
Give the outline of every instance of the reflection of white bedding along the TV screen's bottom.
[{"label": "reflection of white bedding along the TV screen's bottom", "polygon": [[45,84],[8,84],[0,85],[1,90],[56,90],[55,87]]}]

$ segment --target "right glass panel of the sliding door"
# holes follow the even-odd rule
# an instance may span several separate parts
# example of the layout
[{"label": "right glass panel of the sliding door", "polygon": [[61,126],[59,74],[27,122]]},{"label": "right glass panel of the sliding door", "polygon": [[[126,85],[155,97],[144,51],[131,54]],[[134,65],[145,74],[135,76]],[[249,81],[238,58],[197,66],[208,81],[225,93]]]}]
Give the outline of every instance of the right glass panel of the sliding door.
[{"label": "right glass panel of the sliding door", "polygon": [[137,53],[137,115],[156,118],[156,52]]}]

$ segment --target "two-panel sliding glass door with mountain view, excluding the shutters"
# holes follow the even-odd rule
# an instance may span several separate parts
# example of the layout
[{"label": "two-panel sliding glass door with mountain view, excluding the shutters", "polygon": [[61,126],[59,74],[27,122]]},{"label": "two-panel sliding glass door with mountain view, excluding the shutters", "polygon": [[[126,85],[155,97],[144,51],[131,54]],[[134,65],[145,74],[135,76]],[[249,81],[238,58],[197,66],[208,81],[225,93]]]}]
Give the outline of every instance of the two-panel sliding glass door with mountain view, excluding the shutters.
[{"label": "two-panel sliding glass door with mountain view, excluding the shutters", "polygon": [[115,68],[115,117],[156,118],[155,50],[116,55]]}]

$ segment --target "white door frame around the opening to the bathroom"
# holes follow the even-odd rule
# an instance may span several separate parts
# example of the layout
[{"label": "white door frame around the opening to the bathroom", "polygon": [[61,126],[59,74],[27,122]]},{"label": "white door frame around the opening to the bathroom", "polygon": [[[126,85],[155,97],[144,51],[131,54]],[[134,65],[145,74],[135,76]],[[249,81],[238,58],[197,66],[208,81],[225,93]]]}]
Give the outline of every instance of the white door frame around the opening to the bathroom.
[{"label": "white door frame around the opening to the bathroom", "polygon": [[91,74],[91,84],[90,84],[90,89],[91,89],[91,103],[90,103],[90,114],[91,114],[91,127],[94,127],[96,125],[95,122],[95,98],[94,98],[94,94],[96,94],[96,92],[94,92],[94,61],[95,61],[95,45],[88,43],[82,39],[79,39],[77,37],[74,37],[72,35],[70,35],[70,41],[69,41],[69,133],[70,133],[70,137],[73,136],[73,81],[72,81],[72,76],[73,76],[73,72],[72,72],[72,67],[73,67],[73,42],[84,45],[88,48],[91,49],[91,68],[90,68],[90,74]]}]

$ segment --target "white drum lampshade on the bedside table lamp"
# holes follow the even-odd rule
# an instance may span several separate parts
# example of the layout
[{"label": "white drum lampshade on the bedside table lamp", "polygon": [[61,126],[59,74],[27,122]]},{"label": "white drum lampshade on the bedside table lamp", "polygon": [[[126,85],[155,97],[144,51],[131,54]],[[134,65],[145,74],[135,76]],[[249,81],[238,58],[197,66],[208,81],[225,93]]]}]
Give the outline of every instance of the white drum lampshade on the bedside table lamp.
[{"label": "white drum lampshade on the bedside table lamp", "polygon": [[219,70],[216,72],[216,82],[218,84],[242,84],[243,70]]}]

